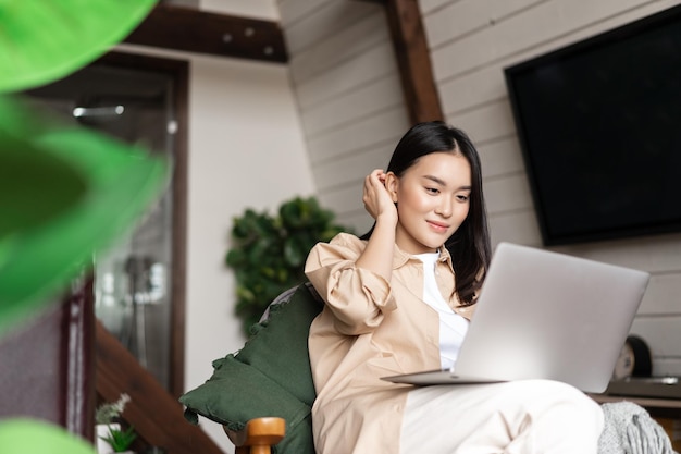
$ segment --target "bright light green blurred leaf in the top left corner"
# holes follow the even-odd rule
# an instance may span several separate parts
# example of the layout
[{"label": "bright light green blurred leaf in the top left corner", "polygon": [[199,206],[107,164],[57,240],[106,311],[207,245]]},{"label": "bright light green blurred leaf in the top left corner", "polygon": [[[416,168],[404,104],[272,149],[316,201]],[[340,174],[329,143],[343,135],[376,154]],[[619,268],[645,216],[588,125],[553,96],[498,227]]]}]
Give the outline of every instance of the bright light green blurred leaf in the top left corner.
[{"label": "bright light green blurred leaf in the top left corner", "polygon": [[0,0],[0,93],[62,78],[108,52],[156,0]]}]

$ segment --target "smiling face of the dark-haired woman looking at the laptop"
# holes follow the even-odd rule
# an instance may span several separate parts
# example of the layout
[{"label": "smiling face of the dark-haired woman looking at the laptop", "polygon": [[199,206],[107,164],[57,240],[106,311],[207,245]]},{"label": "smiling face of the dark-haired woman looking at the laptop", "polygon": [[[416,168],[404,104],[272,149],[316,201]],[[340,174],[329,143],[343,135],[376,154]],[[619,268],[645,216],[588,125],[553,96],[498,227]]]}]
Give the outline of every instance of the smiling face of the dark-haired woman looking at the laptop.
[{"label": "smiling face of the dark-haired woman looking at the laptop", "polygon": [[388,173],[386,188],[397,204],[397,246],[409,254],[433,253],[468,216],[471,167],[460,154],[432,152],[399,177]]}]

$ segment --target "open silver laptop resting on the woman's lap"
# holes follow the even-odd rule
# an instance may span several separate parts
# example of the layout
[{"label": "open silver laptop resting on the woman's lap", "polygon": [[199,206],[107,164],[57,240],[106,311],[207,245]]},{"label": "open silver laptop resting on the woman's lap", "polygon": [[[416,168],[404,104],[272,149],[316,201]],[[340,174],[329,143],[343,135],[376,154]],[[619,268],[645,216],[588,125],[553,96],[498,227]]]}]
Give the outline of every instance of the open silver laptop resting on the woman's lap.
[{"label": "open silver laptop resting on the woman's lap", "polygon": [[500,243],[451,370],[384,377],[417,385],[552,379],[605,391],[649,274]]}]

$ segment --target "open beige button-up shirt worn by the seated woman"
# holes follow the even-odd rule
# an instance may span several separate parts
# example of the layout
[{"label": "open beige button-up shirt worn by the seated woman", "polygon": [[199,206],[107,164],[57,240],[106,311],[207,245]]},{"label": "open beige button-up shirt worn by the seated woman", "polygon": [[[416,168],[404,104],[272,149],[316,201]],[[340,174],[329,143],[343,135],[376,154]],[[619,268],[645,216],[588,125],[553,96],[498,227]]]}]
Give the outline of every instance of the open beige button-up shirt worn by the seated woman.
[{"label": "open beige button-up shirt worn by the seated woman", "polygon": [[[422,300],[421,260],[393,255],[393,275],[357,268],[367,243],[342,233],[312,248],[306,274],[326,302],[310,327],[309,349],[318,397],[312,427],[319,454],[399,453],[409,385],[381,377],[439,368],[439,319]],[[456,297],[449,253],[435,269],[437,286],[459,315],[474,306]]]}]

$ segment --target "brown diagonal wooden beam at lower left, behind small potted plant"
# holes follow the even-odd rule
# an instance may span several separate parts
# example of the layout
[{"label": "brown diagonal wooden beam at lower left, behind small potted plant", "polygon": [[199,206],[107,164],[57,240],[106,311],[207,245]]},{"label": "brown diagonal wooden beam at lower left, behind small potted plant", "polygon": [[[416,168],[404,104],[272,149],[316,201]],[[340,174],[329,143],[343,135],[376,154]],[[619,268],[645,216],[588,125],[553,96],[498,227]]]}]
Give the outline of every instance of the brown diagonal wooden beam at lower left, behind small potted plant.
[{"label": "brown diagonal wooden beam at lower left, behind small potted plant", "polygon": [[127,393],[131,402],[123,418],[146,442],[172,454],[223,454],[201,428],[184,418],[182,404],[100,321],[96,333],[97,393],[107,402]]}]

